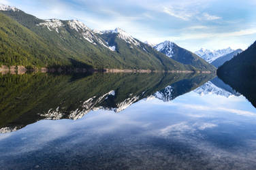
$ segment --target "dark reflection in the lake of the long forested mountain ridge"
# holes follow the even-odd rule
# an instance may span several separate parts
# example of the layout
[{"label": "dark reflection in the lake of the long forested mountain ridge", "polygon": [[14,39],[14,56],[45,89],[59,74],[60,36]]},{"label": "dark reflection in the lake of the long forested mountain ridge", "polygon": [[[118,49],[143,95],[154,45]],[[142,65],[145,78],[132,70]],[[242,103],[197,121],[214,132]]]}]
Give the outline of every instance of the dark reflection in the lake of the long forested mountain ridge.
[{"label": "dark reflection in the lake of the long forested mountain ridge", "polygon": [[[214,75],[169,73],[95,73],[1,75],[1,133],[37,120],[78,119],[95,109],[121,112],[147,97],[170,101],[201,86]],[[172,86],[172,97],[165,87]]]}]

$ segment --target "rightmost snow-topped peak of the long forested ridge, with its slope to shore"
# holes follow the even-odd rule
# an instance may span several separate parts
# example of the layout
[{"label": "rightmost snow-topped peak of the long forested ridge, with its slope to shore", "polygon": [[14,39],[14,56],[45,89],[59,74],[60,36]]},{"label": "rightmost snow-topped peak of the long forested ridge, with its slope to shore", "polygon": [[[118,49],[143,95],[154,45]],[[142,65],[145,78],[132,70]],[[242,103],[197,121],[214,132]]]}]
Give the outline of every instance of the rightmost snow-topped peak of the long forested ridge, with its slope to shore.
[{"label": "rightmost snow-topped peak of the long forested ridge, with its slope to shore", "polygon": [[157,52],[151,46],[131,37],[131,35],[120,28],[100,31],[97,32],[97,35],[106,41],[109,46],[114,48],[115,52],[122,56],[127,63],[133,62],[136,65],[146,65],[149,69],[162,66],[165,70],[169,68],[174,70],[195,70],[194,67],[182,65],[172,58],[166,57],[161,52]]}]

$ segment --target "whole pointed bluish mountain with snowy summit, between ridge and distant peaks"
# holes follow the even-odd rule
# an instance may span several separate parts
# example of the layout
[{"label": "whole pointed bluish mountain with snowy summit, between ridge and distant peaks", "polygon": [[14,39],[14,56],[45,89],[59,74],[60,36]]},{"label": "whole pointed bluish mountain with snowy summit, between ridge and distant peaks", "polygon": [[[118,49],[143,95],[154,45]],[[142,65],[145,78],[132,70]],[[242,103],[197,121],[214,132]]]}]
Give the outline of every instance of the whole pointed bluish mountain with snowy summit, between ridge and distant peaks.
[{"label": "whole pointed bluish mountain with snowy summit, between ridge and distant peaks", "polygon": [[202,58],[193,54],[184,48],[180,48],[174,42],[171,41],[164,41],[157,46],[154,47],[157,51],[169,56],[170,58],[174,59],[185,65],[192,65],[193,67],[203,70],[203,71],[215,71],[216,68]]}]

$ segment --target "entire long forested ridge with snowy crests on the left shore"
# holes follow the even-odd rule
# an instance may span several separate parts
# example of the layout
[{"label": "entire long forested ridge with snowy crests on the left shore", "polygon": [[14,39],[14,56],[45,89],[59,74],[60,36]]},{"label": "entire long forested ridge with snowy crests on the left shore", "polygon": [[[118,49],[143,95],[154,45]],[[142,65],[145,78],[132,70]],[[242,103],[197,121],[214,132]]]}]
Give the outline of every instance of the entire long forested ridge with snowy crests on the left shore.
[{"label": "entire long forested ridge with snowy crests on the left shore", "polygon": [[0,65],[197,71],[125,31],[98,32],[78,20],[41,20],[0,5]]}]

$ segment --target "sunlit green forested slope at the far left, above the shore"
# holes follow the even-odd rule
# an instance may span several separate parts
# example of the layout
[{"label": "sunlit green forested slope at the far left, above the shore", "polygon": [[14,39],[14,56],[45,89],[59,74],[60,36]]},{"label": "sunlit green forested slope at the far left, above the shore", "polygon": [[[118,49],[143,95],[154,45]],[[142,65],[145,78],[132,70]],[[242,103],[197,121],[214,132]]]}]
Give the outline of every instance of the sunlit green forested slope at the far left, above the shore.
[{"label": "sunlit green forested slope at the far left, above the shore", "polygon": [[66,63],[44,39],[0,12],[0,64],[43,67]]}]

